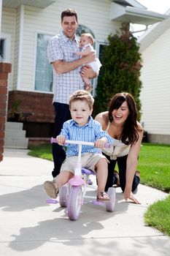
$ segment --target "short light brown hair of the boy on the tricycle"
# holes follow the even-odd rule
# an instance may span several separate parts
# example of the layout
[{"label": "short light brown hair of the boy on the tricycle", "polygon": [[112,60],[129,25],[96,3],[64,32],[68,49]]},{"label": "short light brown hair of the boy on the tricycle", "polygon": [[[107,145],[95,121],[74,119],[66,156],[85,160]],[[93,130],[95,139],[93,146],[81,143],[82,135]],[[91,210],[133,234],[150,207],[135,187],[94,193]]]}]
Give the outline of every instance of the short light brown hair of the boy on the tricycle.
[{"label": "short light brown hair of the boy on the tricycle", "polygon": [[76,100],[85,100],[86,102],[88,102],[88,106],[90,110],[93,109],[94,99],[89,91],[85,91],[85,90],[74,91],[74,93],[69,97],[69,108],[71,108],[72,102]]}]

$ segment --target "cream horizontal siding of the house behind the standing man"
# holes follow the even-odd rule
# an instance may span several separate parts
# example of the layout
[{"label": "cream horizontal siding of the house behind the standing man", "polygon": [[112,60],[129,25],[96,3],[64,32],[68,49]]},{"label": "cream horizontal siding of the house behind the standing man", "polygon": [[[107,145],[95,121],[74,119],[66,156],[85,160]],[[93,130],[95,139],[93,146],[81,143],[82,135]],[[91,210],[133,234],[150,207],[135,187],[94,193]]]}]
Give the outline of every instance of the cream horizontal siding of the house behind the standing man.
[{"label": "cream horizontal siding of the house behind the standing man", "polygon": [[[20,70],[20,85],[22,91],[34,91],[34,72],[36,60],[36,34],[50,34],[51,36],[61,31],[61,12],[66,8],[77,10],[79,23],[88,26],[93,31],[97,42],[105,42],[110,33],[115,33],[120,23],[115,23],[109,18],[109,0],[58,0],[45,9],[24,6],[23,31],[20,31],[20,8],[17,10],[16,21],[11,20],[11,32],[16,31],[15,40],[15,67],[13,72],[13,86],[16,89],[18,82],[18,53],[19,38],[23,34],[22,65]],[[7,20],[2,20],[7,23]],[[16,28],[14,24],[16,23]],[[12,50],[12,52],[14,49]]]}]

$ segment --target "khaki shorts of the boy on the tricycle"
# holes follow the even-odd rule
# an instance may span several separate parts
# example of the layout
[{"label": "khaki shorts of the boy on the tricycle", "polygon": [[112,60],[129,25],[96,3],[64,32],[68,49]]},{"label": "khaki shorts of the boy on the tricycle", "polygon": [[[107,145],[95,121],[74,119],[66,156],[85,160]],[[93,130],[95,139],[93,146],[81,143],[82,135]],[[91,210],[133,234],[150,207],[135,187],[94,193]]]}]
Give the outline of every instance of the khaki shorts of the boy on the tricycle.
[{"label": "khaki shorts of the boy on the tricycle", "polygon": [[[82,154],[81,156],[82,167],[93,170],[93,172],[96,173],[95,166],[100,159],[106,159],[106,161],[108,162],[107,158],[104,157],[103,154],[92,154],[92,153]],[[61,172],[63,170],[69,170],[69,172],[74,173],[74,169],[76,167],[77,161],[78,161],[77,156],[66,157],[66,159],[63,161],[63,164],[61,165]]]}]

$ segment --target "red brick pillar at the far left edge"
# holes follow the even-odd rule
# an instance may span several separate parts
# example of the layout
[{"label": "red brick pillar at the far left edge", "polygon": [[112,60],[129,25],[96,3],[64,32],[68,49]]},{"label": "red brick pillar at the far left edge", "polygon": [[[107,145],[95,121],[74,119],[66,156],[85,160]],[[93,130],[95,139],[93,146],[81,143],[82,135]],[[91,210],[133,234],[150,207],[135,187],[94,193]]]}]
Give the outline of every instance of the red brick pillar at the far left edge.
[{"label": "red brick pillar at the far left edge", "polygon": [[4,131],[7,110],[7,80],[11,64],[0,62],[0,162],[4,153]]}]

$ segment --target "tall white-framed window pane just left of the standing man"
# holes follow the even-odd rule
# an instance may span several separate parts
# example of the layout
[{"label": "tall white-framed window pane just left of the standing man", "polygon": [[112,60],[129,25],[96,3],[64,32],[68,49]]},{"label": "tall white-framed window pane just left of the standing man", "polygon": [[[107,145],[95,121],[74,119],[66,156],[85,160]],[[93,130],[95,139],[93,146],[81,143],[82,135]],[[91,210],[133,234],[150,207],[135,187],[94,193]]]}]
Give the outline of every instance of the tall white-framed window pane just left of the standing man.
[{"label": "tall white-framed window pane just left of the standing man", "polygon": [[36,45],[36,91],[53,91],[53,67],[47,59],[47,44],[51,35],[37,34]]}]

